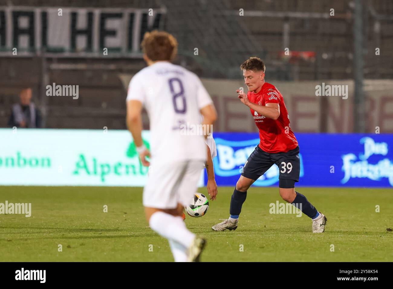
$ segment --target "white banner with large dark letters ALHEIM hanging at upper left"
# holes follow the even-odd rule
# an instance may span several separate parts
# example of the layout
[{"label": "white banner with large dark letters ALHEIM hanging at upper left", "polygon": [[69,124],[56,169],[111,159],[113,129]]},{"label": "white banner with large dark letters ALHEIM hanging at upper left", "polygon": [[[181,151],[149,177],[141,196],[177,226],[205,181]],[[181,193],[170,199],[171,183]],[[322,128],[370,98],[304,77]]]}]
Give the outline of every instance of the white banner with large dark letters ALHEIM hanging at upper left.
[{"label": "white banner with large dark letters ALHEIM hanging at upper left", "polygon": [[0,6],[0,55],[141,58],[143,35],[162,29],[165,13],[165,8]]}]

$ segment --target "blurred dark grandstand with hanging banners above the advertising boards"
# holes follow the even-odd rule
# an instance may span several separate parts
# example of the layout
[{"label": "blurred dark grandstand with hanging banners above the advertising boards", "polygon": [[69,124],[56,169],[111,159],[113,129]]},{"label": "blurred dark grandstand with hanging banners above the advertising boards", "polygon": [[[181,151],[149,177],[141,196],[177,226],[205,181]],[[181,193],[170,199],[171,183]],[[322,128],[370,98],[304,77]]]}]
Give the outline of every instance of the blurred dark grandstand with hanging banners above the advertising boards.
[{"label": "blurred dark grandstand with hanging banners above the advertising boards", "polygon": [[[152,29],[173,33],[175,63],[202,77],[216,131],[255,131],[235,89],[245,87],[239,65],[258,56],[295,132],[393,133],[393,2],[384,0],[2,0],[0,127],[14,126],[13,106],[31,88],[37,127],[125,129],[128,81],[145,66],[140,40]],[[53,83],[78,85],[79,97],[48,96]],[[323,83],[348,85],[348,98],[316,96]]]}]

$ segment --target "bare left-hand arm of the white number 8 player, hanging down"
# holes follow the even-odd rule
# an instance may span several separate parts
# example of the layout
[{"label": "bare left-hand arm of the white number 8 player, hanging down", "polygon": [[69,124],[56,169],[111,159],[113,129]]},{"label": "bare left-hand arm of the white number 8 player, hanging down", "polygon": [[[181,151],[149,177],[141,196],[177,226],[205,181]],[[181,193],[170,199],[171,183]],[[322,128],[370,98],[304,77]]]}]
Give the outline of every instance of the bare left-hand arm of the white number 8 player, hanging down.
[{"label": "bare left-hand arm of the white number 8 player, hanging down", "polygon": [[150,163],[146,160],[146,156],[150,156],[150,152],[143,145],[142,140],[142,103],[139,100],[131,99],[127,101],[126,122],[143,166],[150,166]]}]

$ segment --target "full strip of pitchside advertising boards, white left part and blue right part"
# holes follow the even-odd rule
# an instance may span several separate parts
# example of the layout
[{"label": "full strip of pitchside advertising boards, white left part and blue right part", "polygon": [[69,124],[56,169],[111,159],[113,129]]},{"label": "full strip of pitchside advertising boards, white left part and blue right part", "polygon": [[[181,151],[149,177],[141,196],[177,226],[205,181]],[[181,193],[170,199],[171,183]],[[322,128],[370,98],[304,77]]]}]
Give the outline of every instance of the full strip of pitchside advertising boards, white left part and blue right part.
[{"label": "full strip of pitchside advertising boards, white left part and blue right part", "polygon": [[[143,131],[149,147],[150,133]],[[144,186],[143,167],[128,131],[0,129],[0,184],[36,186]],[[235,186],[257,133],[214,133],[219,186]],[[296,186],[393,187],[393,135],[296,134],[300,179]],[[205,175],[205,177],[204,177]],[[254,186],[278,186],[273,165]],[[206,171],[199,186],[206,185]]]}]

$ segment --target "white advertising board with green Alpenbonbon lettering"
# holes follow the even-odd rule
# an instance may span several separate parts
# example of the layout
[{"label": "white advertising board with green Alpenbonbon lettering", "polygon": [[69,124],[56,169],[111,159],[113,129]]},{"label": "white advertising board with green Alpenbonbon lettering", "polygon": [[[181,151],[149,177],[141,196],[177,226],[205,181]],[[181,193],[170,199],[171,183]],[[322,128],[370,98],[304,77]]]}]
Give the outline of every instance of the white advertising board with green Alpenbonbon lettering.
[{"label": "white advertising board with green Alpenbonbon lettering", "polygon": [[[150,132],[142,138],[149,147]],[[129,131],[0,129],[0,139],[0,185],[141,187],[147,181]]]}]

